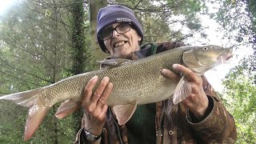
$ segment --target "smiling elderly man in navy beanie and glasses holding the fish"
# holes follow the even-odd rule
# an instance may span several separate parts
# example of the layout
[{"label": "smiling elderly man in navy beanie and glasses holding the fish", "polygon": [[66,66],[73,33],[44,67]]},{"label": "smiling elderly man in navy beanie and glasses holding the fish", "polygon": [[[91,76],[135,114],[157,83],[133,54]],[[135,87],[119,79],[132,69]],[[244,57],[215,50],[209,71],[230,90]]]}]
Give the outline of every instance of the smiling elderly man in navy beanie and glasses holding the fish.
[{"label": "smiling elderly man in navy beanie and glasses holding the fish", "polygon": [[[98,12],[97,35],[102,51],[110,58],[138,59],[183,46],[178,42],[148,43],[142,26],[125,6],[106,6]],[[108,77],[90,79],[84,90],[84,118],[76,143],[234,143],[234,118],[226,111],[206,78],[175,64],[192,86],[190,96],[174,105],[172,99],[138,106],[124,126],[118,126],[106,98],[113,89]],[[179,76],[162,70],[165,78],[178,82]],[[96,82],[100,81],[98,87]]]}]

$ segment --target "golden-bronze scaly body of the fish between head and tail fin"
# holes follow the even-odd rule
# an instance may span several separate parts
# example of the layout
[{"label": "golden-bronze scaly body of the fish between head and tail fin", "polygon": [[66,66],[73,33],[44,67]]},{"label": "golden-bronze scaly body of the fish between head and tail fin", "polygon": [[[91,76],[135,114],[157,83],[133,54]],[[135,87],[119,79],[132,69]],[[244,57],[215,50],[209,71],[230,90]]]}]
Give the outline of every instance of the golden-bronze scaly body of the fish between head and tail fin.
[{"label": "golden-bronze scaly body of the fish between head and tail fin", "polygon": [[94,75],[98,75],[99,78],[110,77],[110,82],[114,85],[114,90],[106,101],[109,106],[135,101],[138,104],[149,103],[152,100],[158,102],[162,98],[156,99],[154,96],[158,95],[159,90],[166,90],[169,86],[165,84],[167,80],[162,77],[160,70],[162,68],[171,69],[174,63],[181,63],[182,52],[182,49],[176,49],[174,53],[156,54],[150,58],[127,62],[107,70],[78,74],[46,86],[43,88],[42,94],[46,97],[45,100],[50,100],[46,102],[47,106],[53,106],[56,102],[69,98],[78,100],[86,83]]}]

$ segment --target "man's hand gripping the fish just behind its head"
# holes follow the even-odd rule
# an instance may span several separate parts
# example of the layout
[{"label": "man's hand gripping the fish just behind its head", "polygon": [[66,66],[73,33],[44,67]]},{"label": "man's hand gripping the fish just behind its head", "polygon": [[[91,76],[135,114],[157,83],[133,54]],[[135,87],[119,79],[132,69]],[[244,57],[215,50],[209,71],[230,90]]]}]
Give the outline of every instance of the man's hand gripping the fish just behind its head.
[{"label": "man's hand gripping the fish just behind its head", "polygon": [[[192,91],[189,94],[189,97],[184,99],[182,101],[182,104],[186,106],[187,109],[189,109],[195,117],[202,118],[204,114],[206,113],[209,101],[206,96],[206,93],[204,92],[202,88],[202,78],[198,77],[192,70],[187,68],[186,66],[182,66],[179,64],[174,64],[174,70],[177,70],[178,72],[181,72],[187,82],[190,82]],[[174,82],[178,83],[179,76],[177,74],[174,74],[170,70],[163,69],[162,75],[165,78],[169,78],[174,80]]]}]

